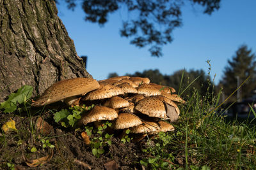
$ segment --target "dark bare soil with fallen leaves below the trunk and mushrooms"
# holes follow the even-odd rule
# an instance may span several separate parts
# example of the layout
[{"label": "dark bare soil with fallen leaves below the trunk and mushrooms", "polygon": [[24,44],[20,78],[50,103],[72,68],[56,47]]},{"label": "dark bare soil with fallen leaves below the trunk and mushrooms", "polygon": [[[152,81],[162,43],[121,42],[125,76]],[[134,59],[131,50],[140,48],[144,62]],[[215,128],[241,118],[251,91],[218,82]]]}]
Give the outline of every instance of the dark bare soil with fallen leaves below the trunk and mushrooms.
[{"label": "dark bare soil with fallen leaves below the trunk and mushrooms", "polygon": [[[92,154],[92,148],[86,145],[81,138],[81,131],[74,131],[61,127],[53,120],[51,111],[40,114],[47,122],[51,130],[49,134],[36,132],[35,124],[38,117],[0,113],[0,125],[8,122],[10,118],[15,121],[17,132],[0,134],[0,169],[8,169],[6,164],[12,163],[15,169],[142,169],[140,165],[143,152],[142,143],[122,143],[119,138],[113,136],[112,144],[104,148],[106,151],[99,158]],[[33,124],[33,125],[31,125]],[[49,139],[54,148],[43,148],[40,139]],[[36,152],[31,152],[35,147]],[[53,153],[53,155],[51,155]],[[37,167],[29,167],[26,162],[45,156],[44,164]],[[52,156],[52,157],[51,157]],[[106,164],[108,163],[108,164]],[[109,166],[110,165],[110,166]],[[144,168],[143,168],[144,169]]]}]

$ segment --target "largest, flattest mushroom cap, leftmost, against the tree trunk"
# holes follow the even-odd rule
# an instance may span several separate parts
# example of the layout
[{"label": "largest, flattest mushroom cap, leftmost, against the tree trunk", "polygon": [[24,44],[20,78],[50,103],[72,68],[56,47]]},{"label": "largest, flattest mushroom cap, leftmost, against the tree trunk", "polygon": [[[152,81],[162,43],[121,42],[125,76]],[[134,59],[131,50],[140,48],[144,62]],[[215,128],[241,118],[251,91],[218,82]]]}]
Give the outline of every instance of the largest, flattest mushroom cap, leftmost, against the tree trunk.
[{"label": "largest, flattest mushroom cap, leftmost, against the tree trunk", "polygon": [[31,106],[44,106],[67,97],[86,94],[99,89],[99,83],[93,78],[70,78],[51,85]]}]

